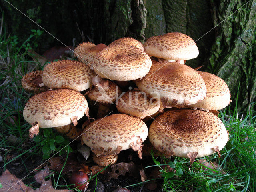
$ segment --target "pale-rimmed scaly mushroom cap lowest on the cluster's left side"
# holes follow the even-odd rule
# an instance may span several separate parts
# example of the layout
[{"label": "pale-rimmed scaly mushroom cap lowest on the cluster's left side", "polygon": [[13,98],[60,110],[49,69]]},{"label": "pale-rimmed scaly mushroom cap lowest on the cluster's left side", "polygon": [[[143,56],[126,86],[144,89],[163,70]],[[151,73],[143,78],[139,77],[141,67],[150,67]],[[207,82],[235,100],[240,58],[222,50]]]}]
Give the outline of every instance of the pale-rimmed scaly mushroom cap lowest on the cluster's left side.
[{"label": "pale-rimmed scaly mushroom cap lowest on the cluster's left side", "polygon": [[38,122],[41,128],[58,127],[71,124],[71,118],[82,118],[87,111],[88,104],[82,94],[70,89],[56,89],[31,97],[23,116],[26,122]]}]

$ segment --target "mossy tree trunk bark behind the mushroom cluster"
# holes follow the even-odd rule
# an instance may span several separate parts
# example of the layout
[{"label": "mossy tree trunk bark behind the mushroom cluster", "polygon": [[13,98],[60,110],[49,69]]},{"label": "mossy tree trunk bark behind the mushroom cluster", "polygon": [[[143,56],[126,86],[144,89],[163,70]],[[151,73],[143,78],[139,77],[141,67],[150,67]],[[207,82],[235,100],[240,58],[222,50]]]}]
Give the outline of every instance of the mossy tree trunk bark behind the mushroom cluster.
[{"label": "mossy tree trunk bark behind the mushroom cluster", "polygon": [[[82,41],[110,44],[124,36],[143,42],[167,32],[188,34],[196,41],[200,54],[186,64],[204,65],[202,70],[223,78],[233,100],[240,83],[239,110],[256,99],[256,0],[247,4],[245,0],[13,0],[11,3],[66,45],[72,45],[74,38],[75,44]],[[20,39],[28,38],[31,29],[38,29],[7,2],[0,1],[0,6],[8,30]],[[60,43],[44,32],[39,51],[42,53],[56,44]]]}]

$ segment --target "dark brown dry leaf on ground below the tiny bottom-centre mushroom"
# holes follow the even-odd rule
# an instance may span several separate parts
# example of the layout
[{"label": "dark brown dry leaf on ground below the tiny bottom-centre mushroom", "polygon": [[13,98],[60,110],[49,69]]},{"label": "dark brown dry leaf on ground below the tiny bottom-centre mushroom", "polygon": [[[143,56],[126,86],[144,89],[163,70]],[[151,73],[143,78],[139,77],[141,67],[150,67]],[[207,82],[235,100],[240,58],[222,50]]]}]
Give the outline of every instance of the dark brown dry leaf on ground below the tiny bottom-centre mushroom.
[{"label": "dark brown dry leaf on ground below the tiny bottom-centre mushroom", "polygon": [[120,175],[125,175],[129,173],[130,176],[139,178],[139,167],[133,162],[130,163],[117,163],[111,166],[112,171],[108,173],[106,181],[110,181],[111,178],[117,179]]}]

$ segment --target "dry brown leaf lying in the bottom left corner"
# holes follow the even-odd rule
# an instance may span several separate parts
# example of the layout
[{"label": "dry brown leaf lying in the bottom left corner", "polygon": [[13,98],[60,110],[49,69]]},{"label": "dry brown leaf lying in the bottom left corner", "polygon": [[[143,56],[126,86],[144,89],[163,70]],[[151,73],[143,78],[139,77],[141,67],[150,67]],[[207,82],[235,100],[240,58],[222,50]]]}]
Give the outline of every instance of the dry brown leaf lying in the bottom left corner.
[{"label": "dry brown leaf lying in the bottom left corner", "polygon": [[20,179],[6,169],[0,177],[0,183],[2,184],[0,192],[6,192],[7,190],[10,192],[34,192],[32,188],[26,186],[22,181],[18,181],[20,181]]}]

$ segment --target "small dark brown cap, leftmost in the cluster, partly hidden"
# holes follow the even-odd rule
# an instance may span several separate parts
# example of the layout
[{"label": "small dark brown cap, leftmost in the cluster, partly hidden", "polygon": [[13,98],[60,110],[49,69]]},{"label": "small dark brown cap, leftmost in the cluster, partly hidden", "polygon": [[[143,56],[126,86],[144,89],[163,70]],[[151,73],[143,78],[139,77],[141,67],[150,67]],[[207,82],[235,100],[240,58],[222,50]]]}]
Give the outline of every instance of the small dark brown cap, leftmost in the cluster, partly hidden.
[{"label": "small dark brown cap, leftmost in the cluster, partly hidden", "polygon": [[21,80],[22,88],[34,93],[47,91],[48,87],[43,85],[42,74],[43,74],[43,71],[35,71],[35,72],[27,73],[25,76],[22,77],[22,80]]}]

